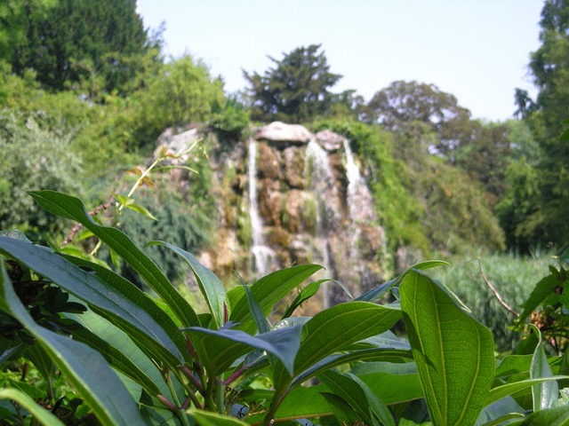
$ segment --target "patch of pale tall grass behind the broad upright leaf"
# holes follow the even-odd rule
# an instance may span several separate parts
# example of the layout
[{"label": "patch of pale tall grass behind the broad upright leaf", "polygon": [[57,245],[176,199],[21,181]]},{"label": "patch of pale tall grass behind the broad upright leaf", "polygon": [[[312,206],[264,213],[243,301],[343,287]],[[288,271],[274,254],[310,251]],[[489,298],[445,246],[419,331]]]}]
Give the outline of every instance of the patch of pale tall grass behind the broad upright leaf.
[{"label": "patch of pale tall grass behind the broad upright leaf", "polygon": [[496,351],[513,351],[519,338],[519,334],[510,328],[514,314],[498,301],[485,283],[481,270],[503,301],[521,312],[522,304],[535,284],[549,273],[549,264],[555,264],[551,254],[539,251],[533,256],[478,254],[445,260],[453,266],[431,270],[431,276],[444,283],[492,330]]}]

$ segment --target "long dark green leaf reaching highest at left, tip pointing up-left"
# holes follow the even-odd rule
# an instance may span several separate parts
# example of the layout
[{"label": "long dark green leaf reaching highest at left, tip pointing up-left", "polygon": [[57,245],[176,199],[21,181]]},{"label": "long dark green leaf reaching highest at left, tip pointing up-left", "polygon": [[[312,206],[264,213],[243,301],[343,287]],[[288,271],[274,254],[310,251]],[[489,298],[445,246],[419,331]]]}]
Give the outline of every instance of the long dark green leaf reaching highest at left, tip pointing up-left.
[{"label": "long dark green leaf reaching highest at left, tip pointing up-left", "polygon": [[188,301],[172,287],[172,283],[164,276],[164,273],[124,233],[116,228],[97,224],[89,216],[83,202],[76,197],[54,191],[32,191],[29,194],[47,211],[60,217],[76,220],[96,235],[100,241],[105,242],[111,250],[124,259],[124,262],[140,274],[158,296],[164,299],[184,327],[199,326],[196,312]]}]

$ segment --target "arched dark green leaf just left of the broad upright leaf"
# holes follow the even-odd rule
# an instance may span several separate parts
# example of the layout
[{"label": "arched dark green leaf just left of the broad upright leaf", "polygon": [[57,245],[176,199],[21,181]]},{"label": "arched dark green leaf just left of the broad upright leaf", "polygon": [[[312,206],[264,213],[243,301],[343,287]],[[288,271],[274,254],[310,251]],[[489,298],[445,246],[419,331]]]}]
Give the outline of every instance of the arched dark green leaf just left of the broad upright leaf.
[{"label": "arched dark green leaf just left of the broad upright leaf", "polygon": [[[318,312],[304,326],[305,337],[294,361],[294,375],[301,375],[351,343],[383,333],[400,318],[400,311],[368,302],[348,302]],[[274,380],[276,388],[281,388],[292,383],[293,377],[276,366]]]}]

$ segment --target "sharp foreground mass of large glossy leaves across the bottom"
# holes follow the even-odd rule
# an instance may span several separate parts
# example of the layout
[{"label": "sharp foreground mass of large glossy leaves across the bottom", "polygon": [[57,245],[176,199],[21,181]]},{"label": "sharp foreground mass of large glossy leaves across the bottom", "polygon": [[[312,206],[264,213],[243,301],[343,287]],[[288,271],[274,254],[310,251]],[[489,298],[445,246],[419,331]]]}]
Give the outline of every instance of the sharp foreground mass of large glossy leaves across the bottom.
[{"label": "sharp foreground mass of large glossy leaves across the bottom", "polygon": [[[321,266],[285,268],[227,292],[196,257],[155,241],[194,272],[209,311],[197,313],[148,256],[124,233],[96,223],[80,200],[31,195],[84,225],[155,296],[21,233],[0,236],[0,361],[33,364],[45,384],[38,394],[25,381],[4,379],[0,415],[8,424],[29,416],[44,424],[80,416],[116,425],[545,424],[546,417],[565,424],[569,416],[557,387],[569,378],[558,376],[566,357],[546,358],[540,339],[531,355],[494,359],[490,330],[420,272],[444,262],[418,264],[313,318],[291,318],[322,284],[301,288]],[[271,326],[273,307],[294,289],[297,298]],[[397,302],[373,303],[389,291]],[[389,331],[401,318],[408,342]],[[61,377],[76,398],[68,388],[56,393],[66,389],[54,386]],[[315,377],[318,384],[302,385]]]}]

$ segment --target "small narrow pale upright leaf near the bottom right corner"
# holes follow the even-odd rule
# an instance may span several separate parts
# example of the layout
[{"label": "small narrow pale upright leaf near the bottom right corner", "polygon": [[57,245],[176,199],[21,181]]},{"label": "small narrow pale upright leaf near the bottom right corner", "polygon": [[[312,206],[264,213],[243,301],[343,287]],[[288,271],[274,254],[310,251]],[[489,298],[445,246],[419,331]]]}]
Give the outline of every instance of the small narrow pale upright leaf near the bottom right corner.
[{"label": "small narrow pale upright leaf near the bottom right corner", "polygon": [[[531,325],[533,333],[540,336],[540,341],[533,352],[532,365],[530,367],[530,378],[548,378],[551,377],[551,368],[549,367],[548,358],[543,350],[543,339],[538,327]],[[557,398],[559,397],[559,389],[556,381],[548,381],[532,386],[533,411],[540,411],[546,408],[557,406]]]}]

